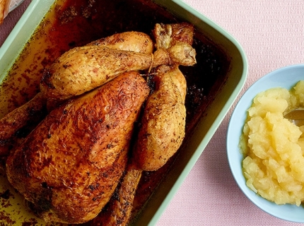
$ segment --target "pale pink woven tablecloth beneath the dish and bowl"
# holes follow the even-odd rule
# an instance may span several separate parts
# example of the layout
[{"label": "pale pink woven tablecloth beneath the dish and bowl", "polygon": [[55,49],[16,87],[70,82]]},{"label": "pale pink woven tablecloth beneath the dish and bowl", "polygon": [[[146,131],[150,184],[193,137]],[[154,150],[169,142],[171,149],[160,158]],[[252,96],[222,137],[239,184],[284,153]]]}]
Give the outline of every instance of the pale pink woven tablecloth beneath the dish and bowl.
[{"label": "pale pink woven tablecloth beneath the dish and bowl", "polygon": [[[230,32],[247,54],[244,90],[281,66],[304,63],[303,0],[185,0]],[[0,26],[0,45],[30,3],[8,14]],[[298,225],[259,210],[233,180],[226,157],[230,110],[158,225]]]}]

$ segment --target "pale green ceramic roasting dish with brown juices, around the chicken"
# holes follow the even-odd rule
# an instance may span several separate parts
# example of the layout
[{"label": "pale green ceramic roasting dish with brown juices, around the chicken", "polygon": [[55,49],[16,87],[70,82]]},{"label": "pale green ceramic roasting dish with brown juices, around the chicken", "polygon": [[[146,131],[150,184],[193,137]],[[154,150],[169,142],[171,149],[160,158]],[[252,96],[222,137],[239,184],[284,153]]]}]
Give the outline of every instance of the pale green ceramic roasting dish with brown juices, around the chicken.
[{"label": "pale green ceramic roasting dish with brown juices, around the chicken", "polygon": [[[82,13],[75,13],[78,8]],[[155,23],[183,21],[195,26],[197,50],[197,65],[181,69],[188,85],[187,137],[165,167],[142,177],[134,225],[156,224],[233,105],[247,77],[247,60],[240,44],[183,1],[33,0],[0,49],[1,117],[37,93],[41,69],[67,49],[126,30],[151,35]],[[16,62],[23,67],[16,69]],[[21,80],[36,77],[19,85],[15,78],[12,92],[4,87],[14,67]],[[45,225],[25,210],[23,198],[8,185],[5,175],[0,177],[0,194],[0,222]]]}]

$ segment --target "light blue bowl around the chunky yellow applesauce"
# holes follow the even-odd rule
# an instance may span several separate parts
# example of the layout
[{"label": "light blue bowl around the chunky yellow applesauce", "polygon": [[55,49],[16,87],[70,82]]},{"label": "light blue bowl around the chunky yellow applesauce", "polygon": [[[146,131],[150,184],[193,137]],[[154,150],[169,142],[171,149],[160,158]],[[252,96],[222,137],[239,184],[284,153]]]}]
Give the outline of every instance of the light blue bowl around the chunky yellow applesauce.
[{"label": "light blue bowl around the chunky yellow applesauce", "polygon": [[286,66],[260,78],[242,95],[240,101],[235,106],[230,118],[227,134],[228,162],[235,182],[237,182],[242,192],[252,203],[255,203],[257,207],[266,213],[292,222],[304,222],[304,207],[302,205],[298,207],[289,204],[276,205],[276,203],[267,201],[249,189],[242,174],[243,155],[238,144],[247,117],[247,109],[252,105],[254,97],[269,88],[281,87],[289,90],[300,80],[304,80],[304,64]]}]

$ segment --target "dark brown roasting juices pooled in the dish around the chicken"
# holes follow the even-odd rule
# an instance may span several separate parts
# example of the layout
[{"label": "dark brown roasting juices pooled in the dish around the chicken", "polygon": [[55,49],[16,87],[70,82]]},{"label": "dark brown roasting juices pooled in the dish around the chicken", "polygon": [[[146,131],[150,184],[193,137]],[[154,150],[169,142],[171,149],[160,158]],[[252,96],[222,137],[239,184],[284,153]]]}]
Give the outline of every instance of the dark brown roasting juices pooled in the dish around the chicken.
[{"label": "dark brown roasting juices pooled in the dish around the chicken", "polygon": [[[45,69],[67,50],[118,32],[135,30],[151,35],[156,23],[179,22],[164,8],[146,0],[56,1],[1,85],[1,117],[39,92]],[[226,55],[198,30],[195,30],[193,47],[197,51],[197,64],[180,66],[187,80],[185,141],[204,114],[204,109],[212,102],[218,85],[226,79],[229,67]],[[174,160],[172,157],[165,167],[157,171],[144,172],[134,200],[133,218],[151,197]],[[93,225],[93,222],[86,225]]]}]

